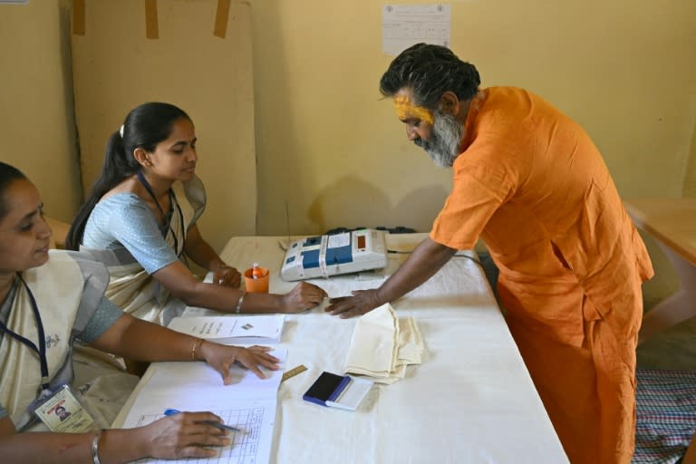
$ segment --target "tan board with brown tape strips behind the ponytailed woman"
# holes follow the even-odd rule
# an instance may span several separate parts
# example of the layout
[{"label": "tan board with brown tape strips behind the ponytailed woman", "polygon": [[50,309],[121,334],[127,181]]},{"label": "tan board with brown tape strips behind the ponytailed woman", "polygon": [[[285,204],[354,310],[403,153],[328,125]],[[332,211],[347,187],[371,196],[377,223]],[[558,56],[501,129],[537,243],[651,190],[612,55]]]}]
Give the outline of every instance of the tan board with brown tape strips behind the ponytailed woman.
[{"label": "tan board with brown tape strips behind the ponytailed woman", "polygon": [[143,102],[178,105],[196,125],[196,172],[208,204],[198,225],[218,250],[256,232],[254,84],[250,6],[233,2],[226,37],[213,34],[217,0],[158,2],[159,38],[146,38],[142,0],[88,0],[73,35],[75,111],[84,183],[104,148]]}]

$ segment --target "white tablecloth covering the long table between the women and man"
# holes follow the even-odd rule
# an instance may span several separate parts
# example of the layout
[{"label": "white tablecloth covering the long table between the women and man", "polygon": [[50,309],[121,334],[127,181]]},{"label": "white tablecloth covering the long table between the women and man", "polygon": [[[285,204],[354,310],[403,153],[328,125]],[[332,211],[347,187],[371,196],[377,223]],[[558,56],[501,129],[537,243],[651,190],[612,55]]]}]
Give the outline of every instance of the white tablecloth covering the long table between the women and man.
[{"label": "white tablecloth covering the long table between the women and man", "polygon": [[[423,237],[391,235],[387,243],[411,250]],[[285,293],[295,283],[279,276],[282,242],[287,237],[236,237],[221,256],[240,271],[254,262],[268,267],[270,291]],[[376,275],[311,282],[330,296],[348,295],[380,285],[405,258],[391,254]],[[286,316],[285,368],[304,364],[309,370],[281,383],[273,462],[567,462],[485,275],[470,257],[455,256],[420,288],[392,302],[397,314],[414,317],[420,328],[422,363],[409,366],[399,382],[375,384],[357,411],[302,400],[320,372],[343,372],[356,321],[325,314],[324,305]],[[187,314],[217,313],[189,308]]]}]

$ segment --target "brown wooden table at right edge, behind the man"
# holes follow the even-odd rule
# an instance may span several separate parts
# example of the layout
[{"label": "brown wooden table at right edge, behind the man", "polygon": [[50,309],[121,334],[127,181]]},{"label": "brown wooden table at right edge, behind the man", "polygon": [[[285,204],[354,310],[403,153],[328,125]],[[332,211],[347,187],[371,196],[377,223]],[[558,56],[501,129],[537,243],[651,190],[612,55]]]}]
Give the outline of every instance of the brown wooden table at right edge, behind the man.
[{"label": "brown wooden table at right edge, behind the man", "polygon": [[640,340],[696,315],[696,198],[623,202],[635,225],[657,239],[680,279],[679,290],[643,318]]}]

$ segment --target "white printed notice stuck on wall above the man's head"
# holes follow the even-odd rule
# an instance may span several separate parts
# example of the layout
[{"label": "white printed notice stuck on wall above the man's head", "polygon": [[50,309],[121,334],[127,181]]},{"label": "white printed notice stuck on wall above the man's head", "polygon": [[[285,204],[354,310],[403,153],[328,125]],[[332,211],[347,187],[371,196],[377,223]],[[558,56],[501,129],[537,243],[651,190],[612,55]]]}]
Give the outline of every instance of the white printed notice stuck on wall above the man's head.
[{"label": "white printed notice stuck on wall above the man's head", "polygon": [[415,43],[449,47],[451,5],[382,6],[382,52],[397,55]]}]

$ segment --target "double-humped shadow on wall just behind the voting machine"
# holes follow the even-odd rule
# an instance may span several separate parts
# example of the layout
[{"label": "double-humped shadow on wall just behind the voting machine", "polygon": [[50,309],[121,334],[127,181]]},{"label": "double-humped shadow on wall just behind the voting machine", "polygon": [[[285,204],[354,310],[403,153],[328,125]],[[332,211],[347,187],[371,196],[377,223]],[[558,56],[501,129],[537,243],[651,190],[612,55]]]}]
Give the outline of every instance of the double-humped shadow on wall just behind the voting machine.
[{"label": "double-humped shadow on wall just behind the voting machine", "polygon": [[442,186],[425,187],[411,191],[392,206],[381,187],[346,176],[319,192],[307,210],[307,217],[318,230],[403,226],[429,232],[447,195],[447,189]]}]

